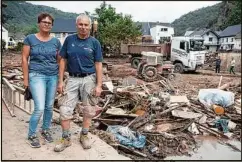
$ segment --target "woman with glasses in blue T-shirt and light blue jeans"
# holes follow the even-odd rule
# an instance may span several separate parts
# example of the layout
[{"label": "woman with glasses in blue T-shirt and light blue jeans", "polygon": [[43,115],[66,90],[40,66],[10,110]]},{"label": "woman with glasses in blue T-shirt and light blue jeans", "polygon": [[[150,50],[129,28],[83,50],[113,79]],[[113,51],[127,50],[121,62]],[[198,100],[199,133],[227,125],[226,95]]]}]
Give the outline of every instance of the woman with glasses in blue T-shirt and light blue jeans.
[{"label": "woman with glasses in blue T-shirt and light blue jeans", "polygon": [[41,135],[47,142],[53,142],[49,128],[58,82],[58,51],[61,48],[60,41],[50,36],[53,22],[54,19],[50,14],[40,14],[38,16],[39,32],[25,38],[22,51],[24,86],[30,88],[34,100],[34,111],[29,121],[27,139],[33,148],[41,147],[36,136],[36,129],[42,114]]}]

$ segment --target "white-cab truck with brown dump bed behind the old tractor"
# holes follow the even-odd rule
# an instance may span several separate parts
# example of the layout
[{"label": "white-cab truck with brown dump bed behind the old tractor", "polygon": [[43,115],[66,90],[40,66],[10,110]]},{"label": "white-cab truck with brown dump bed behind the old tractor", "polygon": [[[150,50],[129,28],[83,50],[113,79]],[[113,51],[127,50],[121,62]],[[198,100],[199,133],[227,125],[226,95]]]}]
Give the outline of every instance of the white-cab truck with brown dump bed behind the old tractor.
[{"label": "white-cab truck with brown dump bed behind the old tractor", "polygon": [[206,53],[204,39],[200,37],[173,37],[171,42],[163,44],[121,44],[121,54],[131,56],[133,68],[138,67],[143,51],[163,54],[163,59],[171,61],[177,73],[201,68]]}]

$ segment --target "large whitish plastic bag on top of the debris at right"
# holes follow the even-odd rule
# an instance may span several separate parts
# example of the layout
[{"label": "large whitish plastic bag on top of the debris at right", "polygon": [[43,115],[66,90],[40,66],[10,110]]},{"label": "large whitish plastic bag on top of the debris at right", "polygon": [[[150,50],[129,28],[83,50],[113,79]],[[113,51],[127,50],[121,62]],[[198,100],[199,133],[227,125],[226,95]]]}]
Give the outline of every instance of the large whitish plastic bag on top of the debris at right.
[{"label": "large whitish plastic bag on top of the debris at right", "polygon": [[234,93],[220,89],[200,89],[198,99],[202,104],[208,107],[212,105],[228,107],[234,104]]}]

